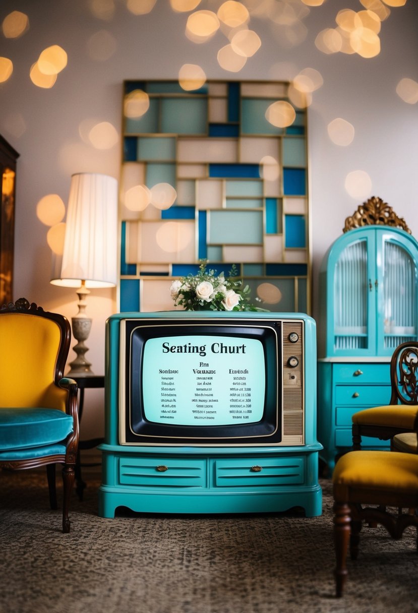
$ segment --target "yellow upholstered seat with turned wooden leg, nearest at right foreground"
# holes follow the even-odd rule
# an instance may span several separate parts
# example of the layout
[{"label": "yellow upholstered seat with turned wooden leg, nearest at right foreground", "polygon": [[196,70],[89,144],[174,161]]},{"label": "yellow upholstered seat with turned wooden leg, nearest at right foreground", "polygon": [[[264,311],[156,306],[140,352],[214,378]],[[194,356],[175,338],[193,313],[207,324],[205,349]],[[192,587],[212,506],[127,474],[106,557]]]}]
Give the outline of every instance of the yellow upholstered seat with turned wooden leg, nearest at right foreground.
[{"label": "yellow upholstered seat with turned wooden leg, nearest at right foreground", "polygon": [[[418,506],[418,455],[351,451],[336,463],[333,495],[336,595],[341,596],[348,546],[355,560],[363,521],[384,525],[393,538],[401,538],[410,525],[418,527],[417,516],[398,512]],[[391,513],[387,507],[397,510]]]}]

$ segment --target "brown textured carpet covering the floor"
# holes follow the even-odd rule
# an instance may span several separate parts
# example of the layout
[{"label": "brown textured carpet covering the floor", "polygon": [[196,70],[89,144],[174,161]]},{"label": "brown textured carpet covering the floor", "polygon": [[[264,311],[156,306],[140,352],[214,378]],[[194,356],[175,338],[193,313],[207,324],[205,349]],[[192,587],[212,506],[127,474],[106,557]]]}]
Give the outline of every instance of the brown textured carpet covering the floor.
[{"label": "brown textured carpet covering the floor", "polygon": [[102,519],[99,477],[86,481],[82,502],[74,493],[71,532],[63,535],[43,472],[0,473],[1,613],[418,611],[412,528],[401,541],[384,528],[363,528],[344,598],[334,598],[327,479],[324,512],[314,518],[289,512]]}]

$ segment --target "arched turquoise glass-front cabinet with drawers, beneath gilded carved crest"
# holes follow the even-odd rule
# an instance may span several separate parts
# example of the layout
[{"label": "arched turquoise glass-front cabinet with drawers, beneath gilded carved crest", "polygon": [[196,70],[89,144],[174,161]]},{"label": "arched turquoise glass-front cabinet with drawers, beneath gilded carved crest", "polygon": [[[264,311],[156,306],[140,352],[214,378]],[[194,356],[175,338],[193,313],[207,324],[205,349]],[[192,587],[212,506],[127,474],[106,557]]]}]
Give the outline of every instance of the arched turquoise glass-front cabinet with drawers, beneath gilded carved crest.
[{"label": "arched turquoise glass-front cabinet with drawers, beneath gilded carved crest", "polygon": [[[350,230],[324,257],[317,432],[329,471],[352,446],[352,414],[389,403],[393,350],[418,339],[417,268],[418,242],[388,226]],[[389,441],[366,437],[362,446]]]}]

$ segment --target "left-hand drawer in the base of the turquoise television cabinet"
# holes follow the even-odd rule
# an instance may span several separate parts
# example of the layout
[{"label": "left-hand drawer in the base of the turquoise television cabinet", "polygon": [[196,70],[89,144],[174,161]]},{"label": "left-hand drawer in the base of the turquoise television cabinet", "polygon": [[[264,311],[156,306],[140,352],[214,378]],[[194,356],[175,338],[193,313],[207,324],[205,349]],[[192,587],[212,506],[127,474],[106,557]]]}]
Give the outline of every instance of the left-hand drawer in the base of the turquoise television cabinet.
[{"label": "left-hand drawer in the base of the turquoise television cabinet", "polygon": [[126,457],[119,460],[119,482],[143,487],[206,487],[207,461],[202,458]]}]

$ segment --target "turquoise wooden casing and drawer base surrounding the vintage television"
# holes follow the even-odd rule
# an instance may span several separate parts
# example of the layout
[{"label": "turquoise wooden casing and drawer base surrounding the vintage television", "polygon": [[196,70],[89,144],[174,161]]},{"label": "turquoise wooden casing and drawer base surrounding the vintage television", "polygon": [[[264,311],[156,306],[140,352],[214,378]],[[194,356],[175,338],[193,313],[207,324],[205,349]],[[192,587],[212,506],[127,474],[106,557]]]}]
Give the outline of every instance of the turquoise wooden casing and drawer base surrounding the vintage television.
[{"label": "turquoise wooden casing and drawer base surrounding the vintage television", "polygon": [[[106,324],[105,443],[99,515],[115,517],[118,507],[158,513],[260,513],[305,509],[307,517],[321,515],[322,491],[318,460],[322,446],[316,438],[316,326],[300,313],[283,319],[305,321],[305,444],[289,446],[147,446],[121,445],[118,431],[120,322],[125,318],[167,312],[120,313]],[[204,311],[172,311],[170,318],[207,318]],[[211,318],[245,319],[245,312],[214,311]],[[276,313],[251,313],[275,318]],[[259,470],[261,469],[261,470]]]}]

